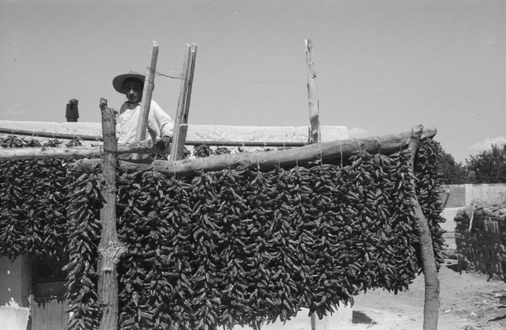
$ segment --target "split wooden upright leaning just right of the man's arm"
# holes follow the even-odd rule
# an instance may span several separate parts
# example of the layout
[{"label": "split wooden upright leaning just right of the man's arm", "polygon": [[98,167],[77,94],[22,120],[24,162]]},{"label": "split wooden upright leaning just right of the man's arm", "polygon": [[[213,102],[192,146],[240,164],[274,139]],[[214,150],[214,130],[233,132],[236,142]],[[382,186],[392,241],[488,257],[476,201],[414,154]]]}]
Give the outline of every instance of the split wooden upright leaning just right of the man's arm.
[{"label": "split wooden upright leaning just right of the man's arm", "polygon": [[190,109],[191,90],[193,85],[193,75],[195,69],[195,57],[197,55],[197,45],[187,45],[188,50],[186,59],[183,63],[183,79],[181,81],[181,93],[178,100],[178,110],[174,120],[174,136],[172,139],[172,148],[170,160],[181,160],[183,158],[183,148],[185,146],[186,133],[188,127],[188,112]]}]

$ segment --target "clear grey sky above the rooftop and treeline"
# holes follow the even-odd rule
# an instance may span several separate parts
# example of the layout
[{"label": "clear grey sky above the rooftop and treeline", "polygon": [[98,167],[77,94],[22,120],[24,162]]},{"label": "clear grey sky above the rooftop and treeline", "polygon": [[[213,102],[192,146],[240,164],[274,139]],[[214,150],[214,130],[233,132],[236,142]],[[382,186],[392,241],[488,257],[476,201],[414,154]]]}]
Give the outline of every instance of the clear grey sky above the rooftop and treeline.
[{"label": "clear grey sky above the rooftop and treeline", "polygon": [[[115,75],[178,76],[198,46],[189,123],[307,126],[304,40],[316,50],[320,123],[350,137],[436,127],[457,161],[506,141],[506,2],[0,0],[0,119],[100,121]],[[174,117],[180,80],[153,99]]]}]

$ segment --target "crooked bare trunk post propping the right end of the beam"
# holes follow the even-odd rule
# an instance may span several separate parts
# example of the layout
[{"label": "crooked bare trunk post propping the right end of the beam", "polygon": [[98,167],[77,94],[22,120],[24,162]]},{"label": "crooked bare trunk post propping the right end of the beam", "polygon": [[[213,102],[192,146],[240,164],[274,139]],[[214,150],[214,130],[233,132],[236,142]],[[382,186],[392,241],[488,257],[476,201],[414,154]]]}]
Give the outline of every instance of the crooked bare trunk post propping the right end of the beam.
[{"label": "crooked bare trunk post propping the right end of the beam", "polygon": [[[414,158],[424,127],[414,126],[411,131],[409,142],[411,169],[414,171]],[[414,190],[413,186],[413,190]],[[421,261],[424,267],[425,277],[425,304],[424,304],[424,330],[436,330],[438,328],[439,315],[439,278],[434,257],[434,245],[432,243],[429,223],[421,211],[416,192],[413,197],[414,212],[420,234]]]}]

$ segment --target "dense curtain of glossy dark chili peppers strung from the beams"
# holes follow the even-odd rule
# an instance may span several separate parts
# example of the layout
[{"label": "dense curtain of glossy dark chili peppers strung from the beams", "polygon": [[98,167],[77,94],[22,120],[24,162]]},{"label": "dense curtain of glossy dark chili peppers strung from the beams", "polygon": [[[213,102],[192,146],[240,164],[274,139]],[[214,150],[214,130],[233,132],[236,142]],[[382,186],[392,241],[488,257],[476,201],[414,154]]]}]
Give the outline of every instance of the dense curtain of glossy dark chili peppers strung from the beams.
[{"label": "dense curtain of glossy dark chili peppers strung from the beams", "polygon": [[[204,151],[198,153],[209,153]],[[439,264],[444,251],[440,152],[439,144],[424,140],[414,172]],[[14,166],[9,163],[2,166]],[[13,188],[18,172],[2,172],[0,193],[14,199],[12,205],[25,205]],[[60,175],[59,182],[66,182],[64,171],[56,173],[50,178]],[[120,174],[117,228],[128,252],[118,265],[119,327],[260,328],[289,319],[302,307],[322,316],[342,303],[353,304],[354,295],[371,288],[406,290],[421,267],[412,175],[403,152],[360,151],[345,166],[224,170],[194,178],[166,178],[155,171]],[[32,180],[33,174],[19,165],[18,176]],[[68,254],[71,330],[97,327],[100,186],[96,173],[85,174],[68,184],[66,196],[44,200],[51,204],[44,210],[60,210],[60,227],[45,221],[60,230],[66,246],[23,243],[15,250],[9,247],[17,242],[14,237],[30,237],[30,232],[2,230],[2,255],[51,248]],[[40,228],[38,220],[12,205],[0,204],[0,229],[18,220]],[[37,235],[50,237],[45,228]]]}]

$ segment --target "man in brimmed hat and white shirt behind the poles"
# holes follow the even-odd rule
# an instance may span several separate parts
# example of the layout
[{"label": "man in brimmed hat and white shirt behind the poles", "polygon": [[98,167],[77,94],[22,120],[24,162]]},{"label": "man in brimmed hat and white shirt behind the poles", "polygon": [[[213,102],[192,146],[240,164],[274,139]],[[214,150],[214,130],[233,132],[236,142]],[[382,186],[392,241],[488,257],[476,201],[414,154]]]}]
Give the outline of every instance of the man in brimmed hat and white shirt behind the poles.
[{"label": "man in brimmed hat and white shirt behind the poles", "polygon": [[[112,79],[114,89],[126,96],[126,102],[121,105],[117,119],[118,143],[138,142],[135,137],[141,113],[144,79],[144,75],[132,71]],[[147,133],[159,149],[164,149],[171,143],[174,133],[174,120],[153,100],[149,107]]]}]

